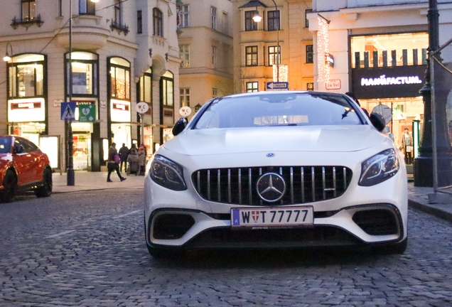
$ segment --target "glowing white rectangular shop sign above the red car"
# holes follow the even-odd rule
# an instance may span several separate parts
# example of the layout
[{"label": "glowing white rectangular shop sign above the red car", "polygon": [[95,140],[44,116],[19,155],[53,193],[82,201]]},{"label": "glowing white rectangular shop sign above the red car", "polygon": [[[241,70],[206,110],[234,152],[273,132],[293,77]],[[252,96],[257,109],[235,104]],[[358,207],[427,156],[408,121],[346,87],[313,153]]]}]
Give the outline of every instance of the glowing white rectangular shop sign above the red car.
[{"label": "glowing white rectangular shop sign above the red car", "polygon": [[43,98],[13,99],[8,101],[9,122],[44,122],[45,101]]}]

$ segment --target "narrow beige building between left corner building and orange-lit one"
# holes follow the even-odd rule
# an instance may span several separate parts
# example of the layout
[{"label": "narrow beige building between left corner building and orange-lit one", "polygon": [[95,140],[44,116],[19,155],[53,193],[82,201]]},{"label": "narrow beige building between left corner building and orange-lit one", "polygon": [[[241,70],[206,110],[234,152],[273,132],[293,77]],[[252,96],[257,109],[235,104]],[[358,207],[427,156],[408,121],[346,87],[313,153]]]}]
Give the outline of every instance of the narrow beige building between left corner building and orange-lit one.
[{"label": "narrow beige building between left corner building and orange-lit one", "polygon": [[178,8],[179,94],[193,115],[212,97],[233,92],[232,2],[183,0]]}]

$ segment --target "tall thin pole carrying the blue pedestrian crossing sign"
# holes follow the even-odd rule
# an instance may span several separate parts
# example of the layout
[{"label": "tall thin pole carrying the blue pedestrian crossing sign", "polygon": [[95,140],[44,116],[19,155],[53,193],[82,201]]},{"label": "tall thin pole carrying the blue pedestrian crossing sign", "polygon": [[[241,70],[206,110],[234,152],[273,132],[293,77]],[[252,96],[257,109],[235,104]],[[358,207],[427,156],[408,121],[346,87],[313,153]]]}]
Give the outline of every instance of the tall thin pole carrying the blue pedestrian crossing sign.
[{"label": "tall thin pole carrying the blue pedestrian crossing sign", "polygon": [[[99,2],[99,0],[90,0]],[[69,0],[69,102],[72,102],[72,0]],[[68,185],[75,185],[74,174],[74,152],[72,140],[72,119],[69,119],[68,126]]]}]

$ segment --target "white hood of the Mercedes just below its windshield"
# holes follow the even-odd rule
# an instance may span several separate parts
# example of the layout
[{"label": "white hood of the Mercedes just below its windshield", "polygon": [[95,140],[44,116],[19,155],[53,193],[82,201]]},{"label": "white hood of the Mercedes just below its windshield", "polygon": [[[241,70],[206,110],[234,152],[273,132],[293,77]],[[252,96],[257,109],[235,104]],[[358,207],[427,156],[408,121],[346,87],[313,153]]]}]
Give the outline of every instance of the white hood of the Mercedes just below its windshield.
[{"label": "white hood of the Mercedes just below its windshield", "polygon": [[187,129],[163,146],[178,154],[240,154],[260,151],[360,151],[387,139],[373,126],[267,126]]}]

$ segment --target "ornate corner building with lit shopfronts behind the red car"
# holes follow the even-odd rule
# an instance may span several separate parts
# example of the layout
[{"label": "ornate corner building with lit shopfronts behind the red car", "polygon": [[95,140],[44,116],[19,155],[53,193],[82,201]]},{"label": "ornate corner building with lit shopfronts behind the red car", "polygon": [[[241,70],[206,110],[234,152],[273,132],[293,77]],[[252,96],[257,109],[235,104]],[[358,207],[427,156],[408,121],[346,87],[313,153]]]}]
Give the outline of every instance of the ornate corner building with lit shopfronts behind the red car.
[{"label": "ornate corner building with lit shopfronts behind the red car", "polygon": [[[70,132],[75,170],[101,171],[112,142],[165,141],[179,105],[176,0],[3,6],[0,50],[11,59],[0,65],[1,134],[31,139],[63,171]],[[137,102],[149,105],[143,134]]]}]

